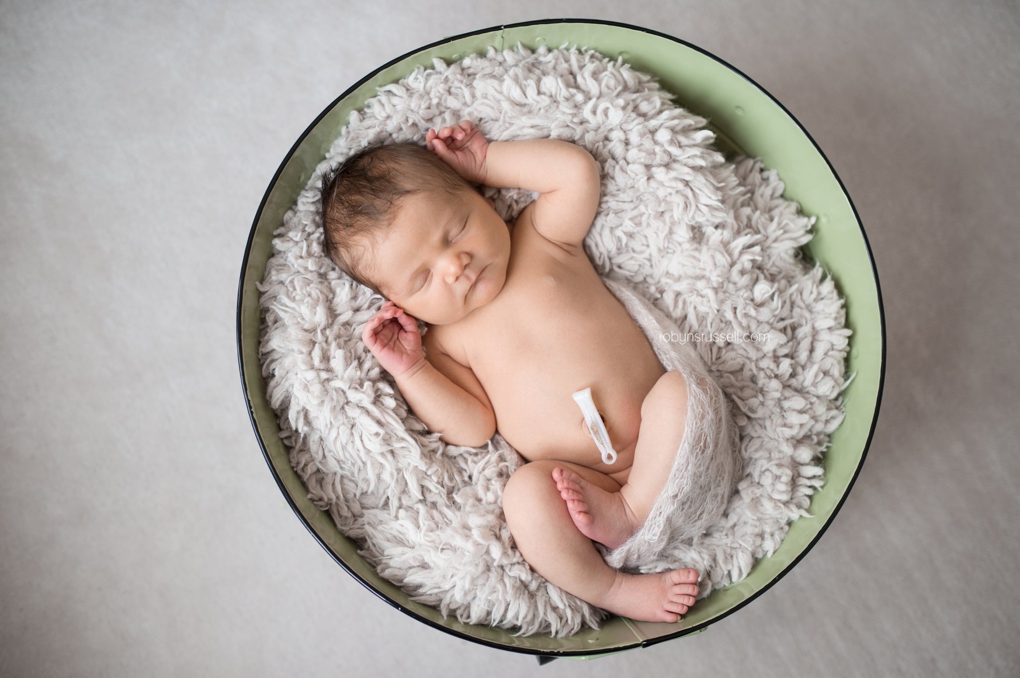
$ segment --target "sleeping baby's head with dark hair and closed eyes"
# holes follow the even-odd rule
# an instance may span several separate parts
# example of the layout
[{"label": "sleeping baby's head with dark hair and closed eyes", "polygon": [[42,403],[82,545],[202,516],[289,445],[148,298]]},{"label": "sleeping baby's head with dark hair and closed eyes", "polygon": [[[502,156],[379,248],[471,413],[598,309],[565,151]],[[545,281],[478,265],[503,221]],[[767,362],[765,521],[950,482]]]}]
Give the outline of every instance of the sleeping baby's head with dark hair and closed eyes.
[{"label": "sleeping baby's head with dark hair and closed eyes", "polygon": [[322,176],[326,251],[351,278],[435,325],[492,301],[510,233],[490,201],[413,144],[360,151]]}]

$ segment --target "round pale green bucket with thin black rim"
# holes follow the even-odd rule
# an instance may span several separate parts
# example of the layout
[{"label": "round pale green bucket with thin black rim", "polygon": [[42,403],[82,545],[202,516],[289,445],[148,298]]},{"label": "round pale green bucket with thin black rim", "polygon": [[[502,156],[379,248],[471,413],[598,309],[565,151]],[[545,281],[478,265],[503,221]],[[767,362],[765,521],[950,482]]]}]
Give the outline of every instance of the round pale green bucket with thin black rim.
[{"label": "round pale green bucket with thin black rim", "polygon": [[[717,148],[727,156],[760,157],[767,167],[777,169],[786,184],[785,197],[818,218],[807,253],[831,273],[847,299],[847,324],[854,331],[848,374],[856,377],[846,391],[846,419],[825,453],[825,487],[812,498],[813,517],[794,522],[781,547],[759,561],[747,578],[700,601],[676,624],[613,617],[601,629],[554,638],[518,637],[499,628],[444,619],[376,574],[358,556],[356,545],[311,503],[291,468],[277,435],[276,416],[266,401],[258,359],[260,312],[255,284],[262,280],[271,253],[273,230],[283,224],[284,214],[325,157],[351,111],[361,109],[377,87],[399,80],[418,65],[430,67],[434,58],[456,61],[484,53],[491,46],[504,49],[518,43],[529,49],[568,43],[622,57],[634,68],[658,76],[680,105],[710,119],[718,134]],[[501,649],[589,659],[704,630],[764,592],[814,546],[846,500],[874,433],[885,371],[885,324],[878,275],[854,205],[824,154],[779,102],[726,62],[675,38],[623,23],[552,19],[447,38],[406,54],[366,75],[312,122],[276,170],[248,237],[238,290],[238,358],[252,427],[270,471],[294,512],[345,570],[401,612],[447,633]]]}]

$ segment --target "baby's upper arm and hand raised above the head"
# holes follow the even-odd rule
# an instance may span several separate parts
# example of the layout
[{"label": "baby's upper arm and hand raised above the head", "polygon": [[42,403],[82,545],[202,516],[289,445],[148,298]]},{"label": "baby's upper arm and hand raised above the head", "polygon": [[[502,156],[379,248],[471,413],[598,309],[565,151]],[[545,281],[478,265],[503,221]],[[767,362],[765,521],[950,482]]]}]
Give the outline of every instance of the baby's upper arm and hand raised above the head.
[{"label": "baby's upper arm and hand raised above the head", "polygon": [[534,228],[571,251],[581,247],[599,209],[599,164],[573,144],[553,138],[487,142],[465,120],[425,143],[470,181],[541,193],[528,209]]}]

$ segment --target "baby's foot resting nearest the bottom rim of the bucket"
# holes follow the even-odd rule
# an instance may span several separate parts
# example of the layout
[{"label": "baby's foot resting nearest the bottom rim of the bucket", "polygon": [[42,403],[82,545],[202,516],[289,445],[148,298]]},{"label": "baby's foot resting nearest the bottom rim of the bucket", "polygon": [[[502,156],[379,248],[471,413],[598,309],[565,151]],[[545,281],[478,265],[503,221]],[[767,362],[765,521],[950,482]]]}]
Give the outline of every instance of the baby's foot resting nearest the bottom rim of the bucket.
[{"label": "baby's foot resting nearest the bottom rim of the bucket", "polygon": [[698,572],[690,568],[661,574],[616,573],[609,592],[595,602],[636,621],[676,622],[698,596]]}]

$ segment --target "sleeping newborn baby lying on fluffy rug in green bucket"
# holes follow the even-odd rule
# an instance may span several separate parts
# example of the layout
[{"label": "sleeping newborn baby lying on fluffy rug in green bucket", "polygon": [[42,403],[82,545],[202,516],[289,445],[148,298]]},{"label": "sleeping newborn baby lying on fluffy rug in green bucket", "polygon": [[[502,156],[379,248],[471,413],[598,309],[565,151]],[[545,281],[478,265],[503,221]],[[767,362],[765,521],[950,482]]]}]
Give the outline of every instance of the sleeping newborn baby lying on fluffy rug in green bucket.
[{"label": "sleeping newborn baby lying on fluffy rug in green bucket", "polygon": [[[537,572],[610,612],[677,621],[696,570],[627,574],[594,544],[617,548],[649,516],[688,395],[584,253],[598,164],[566,142],[490,143],[467,121],[426,146],[369,148],[322,178],[329,256],[389,299],[363,341],[444,441],[478,447],[498,430],[528,461],[503,509]],[[540,195],[507,224],[472,183]],[[613,455],[572,397],[588,388]]]}]

